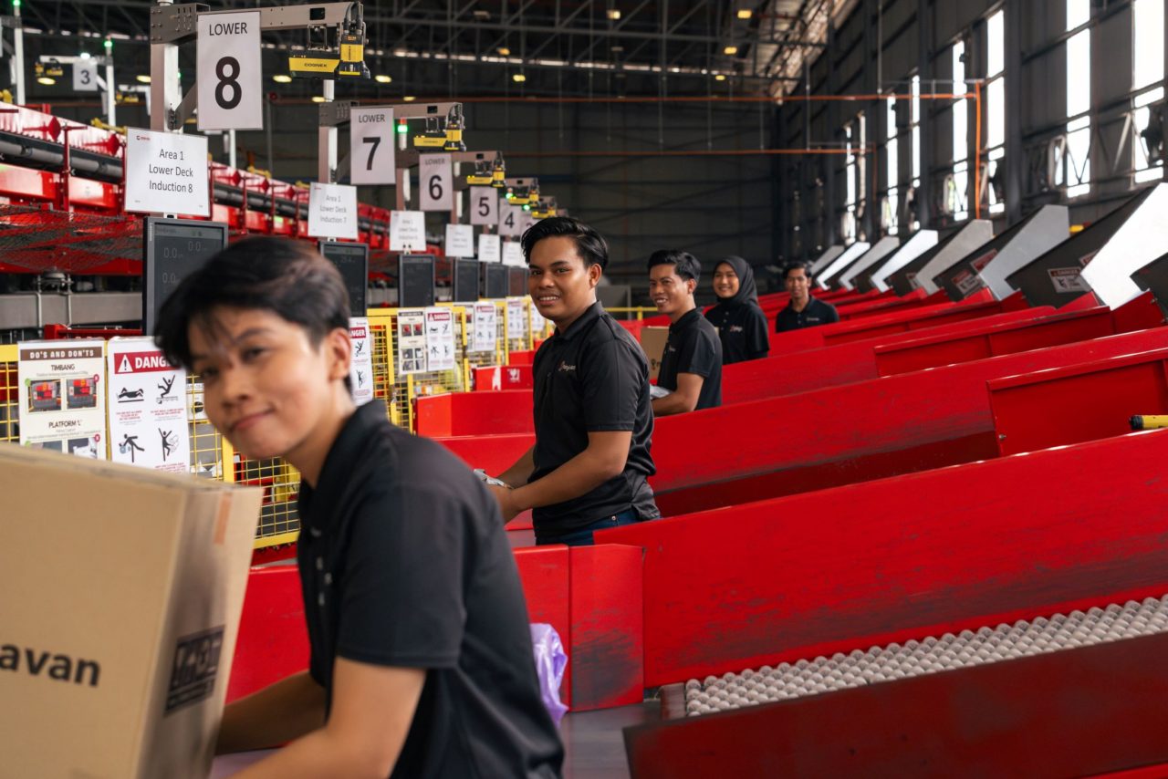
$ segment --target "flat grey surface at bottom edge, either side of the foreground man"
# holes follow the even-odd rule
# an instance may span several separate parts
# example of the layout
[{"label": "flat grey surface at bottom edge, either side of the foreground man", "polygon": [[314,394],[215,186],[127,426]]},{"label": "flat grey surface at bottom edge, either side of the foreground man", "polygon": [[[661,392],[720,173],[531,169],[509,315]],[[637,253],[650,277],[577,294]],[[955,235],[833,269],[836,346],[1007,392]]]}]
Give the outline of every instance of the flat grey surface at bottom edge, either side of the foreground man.
[{"label": "flat grey surface at bottom edge, either side of the foreground man", "polygon": [[[658,701],[564,716],[559,735],[564,739],[565,779],[624,779],[628,775],[623,729],[660,717]],[[215,759],[211,779],[224,779],[251,765],[270,750],[227,754]]]}]

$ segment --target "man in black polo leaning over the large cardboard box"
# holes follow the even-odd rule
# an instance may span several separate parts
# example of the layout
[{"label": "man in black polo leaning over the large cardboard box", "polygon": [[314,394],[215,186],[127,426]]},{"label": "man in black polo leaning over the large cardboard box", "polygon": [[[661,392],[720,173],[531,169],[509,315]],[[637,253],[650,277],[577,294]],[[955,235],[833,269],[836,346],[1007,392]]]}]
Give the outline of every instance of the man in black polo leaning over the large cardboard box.
[{"label": "man in black polo leaning over the large cardboard box", "polygon": [[354,409],[348,315],[336,269],[279,238],[232,244],[160,313],[216,429],[303,479],[308,670],[229,705],[218,751],[291,742],[241,778],[557,777],[498,506],[381,402]]}]

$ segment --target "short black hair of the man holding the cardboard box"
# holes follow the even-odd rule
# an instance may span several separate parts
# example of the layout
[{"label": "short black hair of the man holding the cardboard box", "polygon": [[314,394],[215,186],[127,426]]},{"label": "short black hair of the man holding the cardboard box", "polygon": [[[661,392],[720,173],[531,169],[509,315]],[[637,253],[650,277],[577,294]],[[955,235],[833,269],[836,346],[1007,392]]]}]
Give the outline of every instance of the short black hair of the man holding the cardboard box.
[{"label": "short black hair of the man holding the cardboard box", "polygon": [[190,322],[214,328],[213,312],[221,306],[270,311],[303,327],[313,346],[349,326],[340,271],[310,244],[287,238],[237,241],[179,284],[154,328],[154,342],[171,364],[192,370],[187,328]]}]

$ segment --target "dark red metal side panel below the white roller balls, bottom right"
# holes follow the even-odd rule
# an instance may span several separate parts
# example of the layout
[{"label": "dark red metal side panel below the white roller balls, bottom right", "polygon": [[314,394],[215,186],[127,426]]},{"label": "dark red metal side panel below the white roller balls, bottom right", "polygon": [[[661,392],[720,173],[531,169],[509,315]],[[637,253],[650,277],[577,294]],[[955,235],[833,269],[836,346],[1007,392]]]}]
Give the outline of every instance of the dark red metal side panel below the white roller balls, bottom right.
[{"label": "dark red metal side panel below the white roller balls, bottom right", "polygon": [[1166,652],[1157,634],[628,728],[630,770],[635,779],[1030,779],[1162,763]]}]

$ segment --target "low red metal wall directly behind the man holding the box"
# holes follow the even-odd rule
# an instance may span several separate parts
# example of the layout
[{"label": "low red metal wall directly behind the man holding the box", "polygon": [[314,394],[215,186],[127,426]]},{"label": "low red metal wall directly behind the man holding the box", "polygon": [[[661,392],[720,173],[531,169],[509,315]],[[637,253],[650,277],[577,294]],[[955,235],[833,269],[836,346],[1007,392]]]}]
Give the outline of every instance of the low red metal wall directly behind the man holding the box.
[{"label": "low red metal wall directly behind the man holding the box", "polygon": [[[568,654],[562,700],[578,711],[639,703],[645,687],[640,548],[519,549],[515,563],[528,618],[555,627]],[[307,665],[296,566],[252,569],[228,701],[299,673]]]}]

